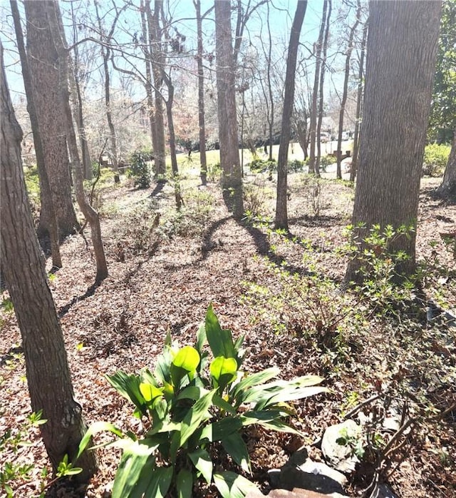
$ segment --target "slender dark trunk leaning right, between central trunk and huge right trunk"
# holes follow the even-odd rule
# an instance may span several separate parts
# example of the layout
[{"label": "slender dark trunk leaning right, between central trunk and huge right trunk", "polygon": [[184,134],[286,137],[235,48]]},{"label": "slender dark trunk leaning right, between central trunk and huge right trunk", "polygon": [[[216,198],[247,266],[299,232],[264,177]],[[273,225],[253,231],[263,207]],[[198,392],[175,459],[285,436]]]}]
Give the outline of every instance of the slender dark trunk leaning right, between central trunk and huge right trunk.
[{"label": "slender dark trunk leaning right, between central trunk and huge right trunk", "polygon": [[288,146],[290,141],[291,128],[290,123],[294,104],[294,76],[296,73],[296,59],[299,49],[299,36],[301,34],[304,15],[306,14],[306,8],[307,0],[298,0],[296,13],[294,14],[293,19],[293,25],[291,26],[288,56],[286,58],[284,110],[282,113],[279,158],[277,161],[277,199],[275,220],[276,228],[283,228],[284,230],[288,230],[286,176],[288,167]]}]

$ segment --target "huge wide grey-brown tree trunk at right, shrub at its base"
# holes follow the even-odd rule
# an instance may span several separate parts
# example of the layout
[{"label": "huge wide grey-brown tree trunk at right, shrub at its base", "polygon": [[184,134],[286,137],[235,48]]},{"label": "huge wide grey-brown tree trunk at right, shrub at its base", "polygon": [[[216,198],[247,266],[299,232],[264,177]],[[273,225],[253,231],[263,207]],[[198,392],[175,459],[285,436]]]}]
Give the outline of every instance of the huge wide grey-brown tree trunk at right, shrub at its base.
[{"label": "huge wide grey-brown tree trunk at right, shrub at its base", "polygon": [[[440,1],[370,4],[363,133],[353,208],[354,235],[359,240],[374,224],[416,227],[440,9]],[[360,223],[365,227],[358,228]],[[390,246],[409,257],[398,263],[397,270],[403,274],[415,268],[415,232],[407,235],[395,238]],[[358,258],[348,264],[348,282],[361,280],[360,265]]]}]

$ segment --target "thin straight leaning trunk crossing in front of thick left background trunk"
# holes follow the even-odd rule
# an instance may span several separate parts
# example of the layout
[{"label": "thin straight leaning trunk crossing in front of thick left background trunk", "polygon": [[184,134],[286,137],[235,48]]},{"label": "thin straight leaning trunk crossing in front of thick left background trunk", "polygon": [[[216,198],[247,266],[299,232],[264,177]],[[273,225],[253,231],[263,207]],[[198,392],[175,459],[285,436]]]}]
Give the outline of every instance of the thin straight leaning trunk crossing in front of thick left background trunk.
[{"label": "thin straight leaning trunk crossing in front of thick left background trunk", "polygon": [[35,146],[36,166],[41,178],[41,199],[44,208],[49,213],[49,236],[51,239],[51,254],[52,265],[54,268],[62,267],[62,259],[60,254],[60,246],[58,242],[58,221],[56,211],[54,210],[51,186],[49,185],[48,173],[44,162],[43,143],[41,143],[41,135],[38,126],[38,118],[36,116],[35,101],[33,99],[33,83],[30,70],[28,68],[28,60],[26,56],[26,48],[24,45],[24,34],[22,33],[21,19],[17,1],[11,0],[11,12],[13,14],[14,29],[16,31],[16,41],[21,58],[22,77],[24,78],[24,87],[27,96],[27,111],[30,116],[31,128],[33,130],[33,143]]}]

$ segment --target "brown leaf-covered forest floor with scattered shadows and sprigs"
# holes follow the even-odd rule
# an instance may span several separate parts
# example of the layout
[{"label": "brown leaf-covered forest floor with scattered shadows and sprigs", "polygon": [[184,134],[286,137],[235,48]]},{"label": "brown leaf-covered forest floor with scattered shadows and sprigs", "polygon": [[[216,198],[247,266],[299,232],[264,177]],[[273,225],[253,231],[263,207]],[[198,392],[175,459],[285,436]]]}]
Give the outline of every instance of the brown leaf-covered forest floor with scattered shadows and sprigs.
[{"label": "brown leaf-covered forest floor with scattered shadows and sprigs", "polygon": [[[98,288],[91,287],[95,263],[86,230],[87,240],[73,235],[63,243],[63,268],[50,278],[76,398],[86,420],[138,431],[132,406],[105,375],[153,370],[168,331],[181,345],[194,343],[212,303],[222,326],[235,337],[245,335],[246,370],[278,366],[284,378],[321,375],[331,388],[329,394],[296,402],[294,423],[303,435],[298,443],[269,432],[247,442],[251,478],[265,492],[268,469],[284,464],[301,444],[318,459],[323,430],[378,395],[364,407],[367,416],[370,410],[371,415],[375,410],[386,413],[393,400],[397,406],[407,405],[408,416],[416,420],[410,441],[405,438],[395,456],[401,464],[388,478],[396,495],[456,496],[456,327],[447,327],[439,317],[426,322],[425,303],[413,313],[394,306],[380,312],[391,302],[388,286],[375,288],[377,295],[368,289],[371,298],[341,293],[348,255],[338,248],[346,242],[353,187],[330,180],[316,186],[300,173],[290,175],[289,183],[291,236],[267,224],[274,212],[275,183],[261,175],[246,178],[244,207],[250,218],[245,223],[229,215],[217,183],[202,187],[192,175],[181,180],[181,213],[175,211],[170,183],[137,190],[124,181],[120,187],[97,190],[109,277]],[[455,260],[440,235],[456,231],[456,205],[433,197],[438,183],[430,178],[422,182],[417,255],[425,265],[426,298],[456,310]],[[311,281],[311,274],[321,277]],[[38,431],[23,435],[31,443],[28,447],[14,452],[11,443],[26,425],[30,403],[20,333],[8,303],[5,292],[0,312],[0,437],[7,430],[11,436],[0,439],[0,470],[6,462],[31,464],[23,478],[15,467],[17,479],[9,484],[14,497],[38,497],[40,486],[49,480],[42,474],[49,463]],[[403,461],[401,451],[406,453]],[[114,449],[100,450],[100,471],[87,497],[110,496],[118,456]],[[346,492],[358,496],[363,486],[358,472]],[[57,486],[48,496],[77,494]]]}]

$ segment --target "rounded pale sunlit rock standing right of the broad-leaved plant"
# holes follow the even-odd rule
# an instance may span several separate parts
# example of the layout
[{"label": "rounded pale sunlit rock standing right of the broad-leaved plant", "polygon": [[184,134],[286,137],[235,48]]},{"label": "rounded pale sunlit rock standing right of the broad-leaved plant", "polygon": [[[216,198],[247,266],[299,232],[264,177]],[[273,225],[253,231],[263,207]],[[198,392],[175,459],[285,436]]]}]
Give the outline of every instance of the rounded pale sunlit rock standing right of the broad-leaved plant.
[{"label": "rounded pale sunlit rock standing right of the broad-leaved plant", "polygon": [[[321,440],[321,452],[326,462],[340,472],[353,472],[359,462],[353,448],[361,437],[361,427],[354,420],[346,420],[328,427]],[[341,444],[341,439],[344,439],[346,444]]]}]

